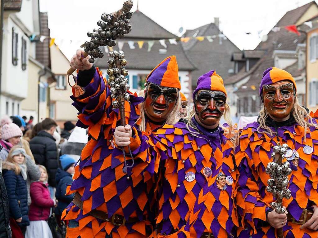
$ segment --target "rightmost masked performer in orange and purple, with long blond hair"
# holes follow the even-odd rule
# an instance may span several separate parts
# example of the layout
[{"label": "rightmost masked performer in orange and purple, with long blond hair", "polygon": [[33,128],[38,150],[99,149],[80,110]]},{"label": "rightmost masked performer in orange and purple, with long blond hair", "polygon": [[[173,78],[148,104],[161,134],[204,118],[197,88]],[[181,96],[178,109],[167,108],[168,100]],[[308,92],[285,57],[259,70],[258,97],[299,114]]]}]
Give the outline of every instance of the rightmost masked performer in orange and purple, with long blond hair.
[{"label": "rightmost masked performer in orange and purple, with long blond hair", "polygon": [[[258,122],[248,124],[239,136],[235,160],[239,168],[237,207],[242,216],[239,237],[318,237],[318,125],[297,99],[293,76],[275,67],[264,72],[259,94],[263,107]],[[314,116],[314,114],[312,114]],[[318,115],[316,114],[315,117]],[[287,214],[270,207],[265,168],[272,162],[273,146],[287,143],[283,161],[290,162],[291,198],[283,200]]]}]

